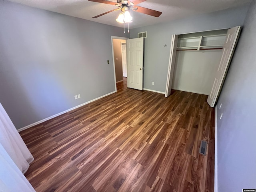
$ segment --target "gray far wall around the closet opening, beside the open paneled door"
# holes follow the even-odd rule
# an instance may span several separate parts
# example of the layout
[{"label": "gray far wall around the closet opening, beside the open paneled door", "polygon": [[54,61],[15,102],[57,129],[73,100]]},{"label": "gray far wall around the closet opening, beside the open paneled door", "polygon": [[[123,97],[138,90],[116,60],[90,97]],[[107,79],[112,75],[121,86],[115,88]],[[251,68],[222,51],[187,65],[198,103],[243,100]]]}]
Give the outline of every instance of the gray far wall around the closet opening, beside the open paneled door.
[{"label": "gray far wall around the closet opening, beside the open paneled door", "polygon": [[234,8],[130,30],[130,38],[137,38],[138,32],[148,32],[144,40],[144,88],[165,92],[172,34],[243,25],[247,10],[248,6]]}]

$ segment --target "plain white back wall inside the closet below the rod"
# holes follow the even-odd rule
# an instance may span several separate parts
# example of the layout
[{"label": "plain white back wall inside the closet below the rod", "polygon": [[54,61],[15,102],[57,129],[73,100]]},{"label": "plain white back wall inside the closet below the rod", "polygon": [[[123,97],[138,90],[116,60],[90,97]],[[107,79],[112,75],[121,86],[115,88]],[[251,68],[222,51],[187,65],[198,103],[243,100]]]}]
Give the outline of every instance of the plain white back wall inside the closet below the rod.
[{"label": "plain white back wall inside the closet below the rod", "polygon": [[172,89],[209,95],[222,50],[177,51]]}]

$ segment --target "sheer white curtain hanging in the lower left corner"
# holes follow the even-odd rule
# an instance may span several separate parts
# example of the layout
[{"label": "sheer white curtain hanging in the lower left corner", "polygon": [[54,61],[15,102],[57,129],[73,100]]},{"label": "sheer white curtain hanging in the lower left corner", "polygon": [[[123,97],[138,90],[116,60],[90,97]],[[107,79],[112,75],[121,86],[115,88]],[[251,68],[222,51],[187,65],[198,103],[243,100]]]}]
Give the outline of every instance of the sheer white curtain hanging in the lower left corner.
[{"label": "sheer white curtain hanging in the lower left corner", "polygon": [[23,175],[34,160],[0,103],[0,191],[35,191]]}]

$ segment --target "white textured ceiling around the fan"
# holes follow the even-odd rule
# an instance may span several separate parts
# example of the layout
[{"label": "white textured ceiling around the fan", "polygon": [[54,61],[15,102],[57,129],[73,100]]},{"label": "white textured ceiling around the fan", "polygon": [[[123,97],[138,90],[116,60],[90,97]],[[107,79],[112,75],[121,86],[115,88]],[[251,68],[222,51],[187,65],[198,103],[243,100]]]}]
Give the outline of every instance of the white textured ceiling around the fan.
[{"label": "white textured ceiling around the fan", "polygon": [[[88,0],[9,0],[27,6],[66,14],[103,24],[122,27],[116,22],[120,10],[108,13],[99,18],[92,18],[103,12],[115,9],[116,6],[89,2]],[[115,0],[110,0],[116,2]],[[132,1],[132,0],[131,0]],[[227,8],[248,5],[251,0],[147,0],[139,6],[162,12],[156,18],[138,12],[131,11],[133,22],[130,28],[152,25],[196,14],[209,13]]]}]

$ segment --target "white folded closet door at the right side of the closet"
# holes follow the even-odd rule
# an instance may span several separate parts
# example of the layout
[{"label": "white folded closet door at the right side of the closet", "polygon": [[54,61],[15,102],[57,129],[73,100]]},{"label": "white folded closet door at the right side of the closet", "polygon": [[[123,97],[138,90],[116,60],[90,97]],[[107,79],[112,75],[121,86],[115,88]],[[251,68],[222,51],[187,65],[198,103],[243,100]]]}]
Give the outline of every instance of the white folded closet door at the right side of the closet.
[{"label": "white folded closet door at the right side of the closet", "polygon": [[216,100],[220,94],[220,90],[224,83],[224,78],[226,76],[226,72],[228,70],[228,66],[232,59],[234,48],[239,37],[240,28],[240,26],[237,26],[228,30],[228,34],[226,36],[226,40],[222,49],[220,64],[215,74],[215,80],[212,86],[212,90],[207,98],[207,102],[211,107],[214,107]]}]

